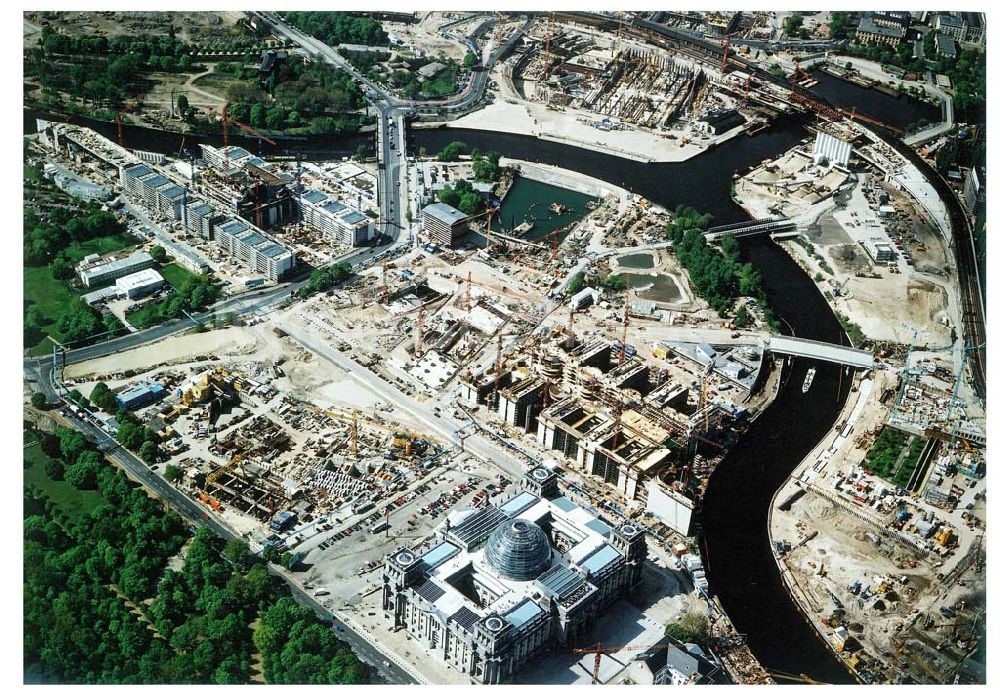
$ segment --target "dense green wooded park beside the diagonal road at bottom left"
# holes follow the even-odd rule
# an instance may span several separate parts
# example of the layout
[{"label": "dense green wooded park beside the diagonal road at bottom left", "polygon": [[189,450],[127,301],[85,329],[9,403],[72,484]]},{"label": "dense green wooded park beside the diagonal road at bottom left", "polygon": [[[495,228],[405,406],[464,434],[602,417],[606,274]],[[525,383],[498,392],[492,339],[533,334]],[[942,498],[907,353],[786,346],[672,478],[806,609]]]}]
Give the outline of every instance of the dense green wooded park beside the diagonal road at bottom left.
[{"label": "dense green wooded park beside the diagonal road at bottom left", "polygon": [[[75,430],[25,452],[26,680],[365,683],[365,666],[246,543],[192,535]],[[65,480],[63,480],[63,478]],[[78,490],[81,506],[66,490]],[[179,569],[168,560],[185,549]],[[255,663],[259,666],[255,667]]]}]

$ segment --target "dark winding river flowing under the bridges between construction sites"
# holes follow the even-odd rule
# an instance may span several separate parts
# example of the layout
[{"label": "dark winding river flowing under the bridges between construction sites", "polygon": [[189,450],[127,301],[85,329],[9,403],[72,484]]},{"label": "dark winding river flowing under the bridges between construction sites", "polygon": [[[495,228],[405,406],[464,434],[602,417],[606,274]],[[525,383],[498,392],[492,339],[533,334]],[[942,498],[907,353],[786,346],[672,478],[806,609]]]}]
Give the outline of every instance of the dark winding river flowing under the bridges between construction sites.
[{"label": "dark winding river flowing under the bridges between construction sites", "polygon": [[[861,91],[865,99],[877,94],[872,90]],[[839,101],[837,95],[827,96]],[[843,102],[839,105],[850,106]],[[25,112],[26,133],[34,130],[36,115],[44,117]],[[918,117],[908,118],[912,121]],[[676,163],[639,164],[529,136],[462,129],[415,129],[409,145],[414,151],[423,146],[435,152],[453,140],[461,140],[470,148],[494,149],[503,156],[578,171],[670,209],[689,205],[711,213],[714,223],[724,224],[747,217],[730,198],[733,175],[806,139],[808,134],[803,125],[807,121],[805,116],[788,117],[755,137],[739,136],[722,147]],[[116,137],[114,124],[80,118],[74,122]],[[176,154],[182,146],[180,135],[134,126],[126,126],[125,140],[130,147],[171,154]],[[253,152],[273,153],[266,143],[258,149],[256,140],[230,140]],[[195,142],[219,144],[220,141],[221,137],[212,136],[183,138],[185,147]],[[280,149],[333,157],[352,154],[360,143],[370,144],[371,138],[315,137],[308,142],[280,143]],[[785,332],[846,343],[815,284],[783,249],[766,238],[744,241],[741,248],[745,260],[761,271],[768,301],[782,319]],[[803,394],[801,384],[810,366],[816,367],[816,376],[809,393]],[[767,533],[768,510],[775,490],[836,424],[850,382],[836,365],[801,359],[786,369],[784,375],[786,387],[774,404],[749,428],[712,475],[703,504],[703,555],[713,590],[765,667],[805,673],[819,681],[850,683],[853,680],[848,671],[789,598],[778,575]]]}]

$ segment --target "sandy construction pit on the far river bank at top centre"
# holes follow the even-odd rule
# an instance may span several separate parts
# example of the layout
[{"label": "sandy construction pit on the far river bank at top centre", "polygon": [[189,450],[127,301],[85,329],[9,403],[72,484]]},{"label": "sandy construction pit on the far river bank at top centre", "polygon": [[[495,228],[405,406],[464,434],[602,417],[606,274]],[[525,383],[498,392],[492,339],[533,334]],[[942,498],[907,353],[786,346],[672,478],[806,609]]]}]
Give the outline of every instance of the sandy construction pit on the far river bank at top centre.
[{"label": "sandy construction pit on the far river bank at top centre", "polygon": [[496,101],[449,125],[531,134],[639,161],[683,161],[787,108],[683,49],[549,19],[491,73]]}]

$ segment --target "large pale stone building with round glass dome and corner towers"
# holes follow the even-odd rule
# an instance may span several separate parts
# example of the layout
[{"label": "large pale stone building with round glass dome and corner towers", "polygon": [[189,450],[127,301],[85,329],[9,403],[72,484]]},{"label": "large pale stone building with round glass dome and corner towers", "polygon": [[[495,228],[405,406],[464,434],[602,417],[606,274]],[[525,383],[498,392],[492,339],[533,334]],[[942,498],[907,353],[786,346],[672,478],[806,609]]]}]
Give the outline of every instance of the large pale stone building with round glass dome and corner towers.
[{"label": "large pale stone building with round glass dome and corner towers", "polygon": [[453,512],[438,543],[386,557],[382,608],[473,682],[502,683],[551,648],[568,649],[642,582],[645,530],[618,527],[563,497],[531,469],[521,491]]}]

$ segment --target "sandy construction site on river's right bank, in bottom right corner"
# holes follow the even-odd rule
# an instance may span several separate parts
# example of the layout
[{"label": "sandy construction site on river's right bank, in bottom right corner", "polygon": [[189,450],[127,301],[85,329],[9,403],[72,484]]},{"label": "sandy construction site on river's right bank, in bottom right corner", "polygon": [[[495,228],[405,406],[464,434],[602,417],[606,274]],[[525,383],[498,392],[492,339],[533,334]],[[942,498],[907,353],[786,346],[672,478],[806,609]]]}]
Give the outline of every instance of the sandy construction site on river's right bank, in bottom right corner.
[{"label": "sandy construction site on river's right bank, in bottom right corner", "polygon": [[775,556],[801,610],[863,682],[974,682],[985,442],[960,419],[904,423],[894,381],[861,380],[847,419],[778,491]]}]

